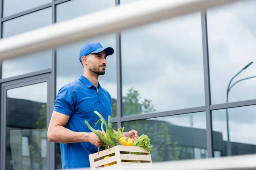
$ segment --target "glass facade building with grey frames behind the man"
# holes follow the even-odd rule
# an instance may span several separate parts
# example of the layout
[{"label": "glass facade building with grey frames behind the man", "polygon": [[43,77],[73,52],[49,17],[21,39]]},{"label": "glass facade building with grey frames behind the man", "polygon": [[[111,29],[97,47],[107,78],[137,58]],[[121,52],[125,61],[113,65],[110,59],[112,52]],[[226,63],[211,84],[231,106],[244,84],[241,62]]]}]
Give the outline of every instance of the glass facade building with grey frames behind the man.
[{"label": "glass facade building with grey frames behind the man", "polygon": [[[0,37],[133,1],[1,0]],[[99,77],[115,129],[147,134],[155,162],[255,154],[254,17],[244,0],[90,40],[115,50]],[[83,74],[85,42],[1,63],[0,169],[61,169],[47,126],[58,90]]]}]

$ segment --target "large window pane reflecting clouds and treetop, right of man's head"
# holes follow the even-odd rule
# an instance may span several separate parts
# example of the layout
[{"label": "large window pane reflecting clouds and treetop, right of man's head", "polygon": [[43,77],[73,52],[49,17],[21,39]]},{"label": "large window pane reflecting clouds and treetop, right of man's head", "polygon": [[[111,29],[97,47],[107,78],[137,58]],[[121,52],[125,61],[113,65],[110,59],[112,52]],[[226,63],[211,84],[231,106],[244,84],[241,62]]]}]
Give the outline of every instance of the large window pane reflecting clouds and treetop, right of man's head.
[{"label": "large window pane reflecting clouds and treetop, right of man's head", "polygon": [[205,105],[200,13],[121,35],[123,115]]}]

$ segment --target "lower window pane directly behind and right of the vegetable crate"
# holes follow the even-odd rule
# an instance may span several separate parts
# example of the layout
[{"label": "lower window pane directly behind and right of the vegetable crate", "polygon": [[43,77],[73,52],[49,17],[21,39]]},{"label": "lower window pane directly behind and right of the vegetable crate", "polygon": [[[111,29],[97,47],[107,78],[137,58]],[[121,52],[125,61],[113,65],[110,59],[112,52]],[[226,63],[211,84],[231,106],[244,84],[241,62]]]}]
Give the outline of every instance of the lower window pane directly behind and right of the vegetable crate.
[{"label": "lower window pane directly behind and right of the vegetable crate", "polygon": [[207,148],[205,112],[122,122],[122,127],[148,135],[153,162],[201,159],[194,148]]}]

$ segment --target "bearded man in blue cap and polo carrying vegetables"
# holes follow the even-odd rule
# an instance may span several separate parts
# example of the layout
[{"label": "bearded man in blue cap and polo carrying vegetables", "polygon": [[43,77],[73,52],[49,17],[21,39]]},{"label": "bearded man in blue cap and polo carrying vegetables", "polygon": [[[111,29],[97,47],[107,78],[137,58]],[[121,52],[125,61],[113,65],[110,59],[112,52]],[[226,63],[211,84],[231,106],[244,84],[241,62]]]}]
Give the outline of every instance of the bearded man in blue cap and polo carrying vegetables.
[{"label": "bearded man in blue cap and polo carrying vegetables", "polygon": [[[58,92],[49,123],[47,136],[50,142],[61,143],[63,169],[90,167],[88,155],[96,153],[103,141],[84,123],[99,120],[98,111],[106,121],[112,114],[112,99],[101,87],[98,77],[105,74],[106,57],[114,53],[113,48],[103,48],[99,42],[89,42],[80,49],[79,60],[84,74],[79,79],[64,85]],[[67,68],[68,69],[68,68]],[[100,123],[94,127],[102,134]],[[138,132],[131,130],[126,137],[138,139]]]}]

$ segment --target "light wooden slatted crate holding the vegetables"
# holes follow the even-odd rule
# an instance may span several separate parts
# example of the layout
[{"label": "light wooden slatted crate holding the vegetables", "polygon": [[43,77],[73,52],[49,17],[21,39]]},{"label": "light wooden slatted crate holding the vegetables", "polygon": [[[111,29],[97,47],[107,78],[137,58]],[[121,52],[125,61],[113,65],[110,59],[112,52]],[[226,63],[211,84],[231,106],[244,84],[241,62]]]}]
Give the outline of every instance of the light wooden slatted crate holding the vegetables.
[{"label": "light wooden slatted crate holding the vegetables", "polygon": [[[127,154],[124,152],[139,152],[143,153],[143,155],[136,154]],[[114,156],[103,159],[105,156],[114,153]],[[90,168],[91,170],[124,170],[129,169],[130,165],[139,165],[141,168],[150,169],[152,168],[152,160],[150,152],[146,151],[142,147],[134,147],[134,146],[122,146],[118,145],[115,147],[111,147],[107,150],[102,150],[99,153],[93,153],[89,155],[90,160]],[[136,160],[139,162],[128,162],[130,160]],[[104,164],[108,164],[111,162],[115,162],[116,164],[110,165],[108,167],[104,167]],[[134,168],[132,168],[134,169]]]}]

